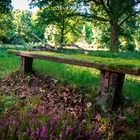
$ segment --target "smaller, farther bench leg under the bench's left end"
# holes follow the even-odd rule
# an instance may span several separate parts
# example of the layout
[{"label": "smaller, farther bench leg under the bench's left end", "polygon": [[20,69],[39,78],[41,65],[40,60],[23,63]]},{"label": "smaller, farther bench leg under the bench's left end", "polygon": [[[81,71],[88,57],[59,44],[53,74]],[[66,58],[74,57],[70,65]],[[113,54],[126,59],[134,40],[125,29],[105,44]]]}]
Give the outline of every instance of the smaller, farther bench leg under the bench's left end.
[{"label": "smaller, farther bench leg under the bench's left end", "polygon": [[32,73],[33,58],[21,57],[21,72]]}]

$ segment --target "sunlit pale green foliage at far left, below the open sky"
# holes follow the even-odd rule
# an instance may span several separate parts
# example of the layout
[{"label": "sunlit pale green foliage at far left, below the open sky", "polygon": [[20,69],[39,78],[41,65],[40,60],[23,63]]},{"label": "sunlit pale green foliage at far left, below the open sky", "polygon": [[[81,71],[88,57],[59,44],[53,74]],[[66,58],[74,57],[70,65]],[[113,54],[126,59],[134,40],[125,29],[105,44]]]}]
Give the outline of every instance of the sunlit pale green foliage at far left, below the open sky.
[{"label": "sunlit pale green foliage at far left, below the open sky", "polygon": [[37,28],[31,12],[13,10],[10,14],[0,16],[0,42],[23,45],[33,41],[31,33],[36,33]]}]

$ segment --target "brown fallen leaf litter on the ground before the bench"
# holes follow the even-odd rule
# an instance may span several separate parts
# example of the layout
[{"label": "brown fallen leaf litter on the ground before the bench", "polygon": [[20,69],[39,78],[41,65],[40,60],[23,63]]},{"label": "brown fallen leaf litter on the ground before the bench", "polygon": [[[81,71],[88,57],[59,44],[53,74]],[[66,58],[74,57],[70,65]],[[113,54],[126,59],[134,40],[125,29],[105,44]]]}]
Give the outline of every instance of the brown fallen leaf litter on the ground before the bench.
[{"label": "brown fallen leaf litter on the ground before the bench", "polygon": [[[95,97],[92,99],[91,95],[86,93],[86,89],[81,88],[73,88],[51,76],[23,75],[19,71],[0,80],[2,96],[13,98],[10,107],[5,107],[6,112],[12,113],[12,110],[17,110],[18,107],[18,110],[32,108],[35,114],[40,109],[48,114],[60,116],[65,114],[63,119],[70,116],[75,130],[81,131],[85,128],[91,131],[94,128],[93,139],[137,140],[140,138],[139,105],[129,103],[118,111],[102,113],[96,106]],[[9,102],[4,100],[5,98],[1,103]],[[85,139],[84,134],[79,138],[74,137]]]}]

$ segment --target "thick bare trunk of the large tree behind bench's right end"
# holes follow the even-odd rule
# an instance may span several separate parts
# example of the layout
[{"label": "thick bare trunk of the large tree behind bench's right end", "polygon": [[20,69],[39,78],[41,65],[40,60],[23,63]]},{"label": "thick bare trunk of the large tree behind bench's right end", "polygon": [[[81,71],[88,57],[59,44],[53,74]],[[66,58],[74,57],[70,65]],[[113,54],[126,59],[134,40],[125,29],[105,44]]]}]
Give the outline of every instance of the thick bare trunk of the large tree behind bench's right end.
[{"label": "thick bare trunk of the large tree behind bench's right end", "polygon": [[118,21],[110,22],[111,34],[110,34],[110,51],[119,51],[119,36],[118,36]]}]

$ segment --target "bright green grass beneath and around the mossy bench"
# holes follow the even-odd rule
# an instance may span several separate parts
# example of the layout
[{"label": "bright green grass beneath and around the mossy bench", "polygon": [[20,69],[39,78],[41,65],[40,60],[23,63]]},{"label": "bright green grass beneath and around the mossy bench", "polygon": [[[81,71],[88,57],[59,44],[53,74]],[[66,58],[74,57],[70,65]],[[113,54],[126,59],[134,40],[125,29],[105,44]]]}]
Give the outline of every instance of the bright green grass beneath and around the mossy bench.
[{"label": "bright green grass beneath and around the mossy bench", "polygon": [[[4,78],[11,72],[19,69],[20,59],[14,55],[7,54],[7,49],[9,48],[15,49],[12,45],[9,45],[8,47],[4,45],[0,48],[0,78]],[[105,52],[97,52],[97,54],[106,57]],[[111,54],[109,55],[111,57]],[[134,56],[134,54],[131,55],[130,53],[129,55]],[[118,57],[118,55],[116,56]],[[126,57],[126,54],[123,57]],[[138,58],[138,56],[136,57]],[[51,61],[35,60],[34,70],[39,74],[51,75],[75,87],[86,86],[92,93],[97,93],[99,85],[99,71],[96,69],[72,66]],[[123,94],[131,97],[135,103],[140,103],[139,76],[126,75]]]}]

